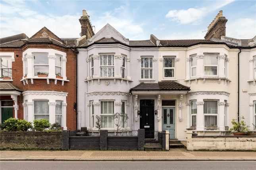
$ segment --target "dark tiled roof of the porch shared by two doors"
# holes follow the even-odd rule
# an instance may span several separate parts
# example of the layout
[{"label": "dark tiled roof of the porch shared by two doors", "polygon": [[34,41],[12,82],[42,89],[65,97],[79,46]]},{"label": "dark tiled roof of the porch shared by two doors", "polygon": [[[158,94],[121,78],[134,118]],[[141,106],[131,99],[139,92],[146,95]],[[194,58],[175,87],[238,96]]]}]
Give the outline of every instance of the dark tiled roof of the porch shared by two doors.
[{"label": "dark tiled roof of the porch shared by two doors", "polygon": [[177,83],[176,81],[159,81],[158,83],[140,83],[131,88],[131,91],[137,90],[184,90],[190,91],[190,87]]}]

